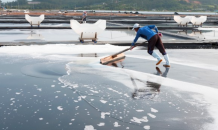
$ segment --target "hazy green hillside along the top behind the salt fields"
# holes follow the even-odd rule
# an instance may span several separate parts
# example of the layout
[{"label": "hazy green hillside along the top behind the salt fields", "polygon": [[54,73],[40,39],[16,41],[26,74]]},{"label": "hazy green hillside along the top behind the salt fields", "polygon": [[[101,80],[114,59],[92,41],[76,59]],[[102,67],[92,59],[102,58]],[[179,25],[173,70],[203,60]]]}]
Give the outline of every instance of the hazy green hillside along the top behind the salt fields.
[{"label": "hazy green hillside along the top behind the salt fields", "polygon": [[[18,0],[20,8],[66,9],[66,10],[157,10],[187,11],[216,10],[218,0],[33,0],[39,5],[28,5],[26,0]],[[18,2],[8,3],[8,7]],[[7,4],[6,4],[7,6]]]}]

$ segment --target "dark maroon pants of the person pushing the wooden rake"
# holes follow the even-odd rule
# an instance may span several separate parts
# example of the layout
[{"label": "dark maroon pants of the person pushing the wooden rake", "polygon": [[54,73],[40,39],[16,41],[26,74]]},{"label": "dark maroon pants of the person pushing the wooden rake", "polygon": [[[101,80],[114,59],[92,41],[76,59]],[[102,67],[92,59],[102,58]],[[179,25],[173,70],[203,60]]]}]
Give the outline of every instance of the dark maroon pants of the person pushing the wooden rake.
[{"label": "dark maroon pants of the person pushing the wooden rake", "polygon": [[161,38],[158,36],[158,34],[154,35],[149,41],[148,41],[148,53],[152,55],[154,47],[157,47],[157,49],[160,51],[162,55],[166,55],[166,51],[164,48],[164,45],[161,41]]}]

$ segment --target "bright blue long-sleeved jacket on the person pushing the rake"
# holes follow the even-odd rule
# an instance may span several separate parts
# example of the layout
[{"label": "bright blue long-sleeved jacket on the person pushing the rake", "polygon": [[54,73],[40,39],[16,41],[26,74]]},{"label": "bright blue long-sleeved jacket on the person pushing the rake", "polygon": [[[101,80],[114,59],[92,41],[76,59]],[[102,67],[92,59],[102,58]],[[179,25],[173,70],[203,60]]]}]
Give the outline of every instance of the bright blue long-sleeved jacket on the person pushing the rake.
[{"label": "bright blue long-sleeved jacket on the person pushing the rake", "polygon": [[[156,33],[152,29],[155,29]],[[142,37],[147,41],[149,41],[157,33],[158,33],[158,29],[155,25],[140,27],[133,41],[133,44],[137,42],[139,37]]]}]

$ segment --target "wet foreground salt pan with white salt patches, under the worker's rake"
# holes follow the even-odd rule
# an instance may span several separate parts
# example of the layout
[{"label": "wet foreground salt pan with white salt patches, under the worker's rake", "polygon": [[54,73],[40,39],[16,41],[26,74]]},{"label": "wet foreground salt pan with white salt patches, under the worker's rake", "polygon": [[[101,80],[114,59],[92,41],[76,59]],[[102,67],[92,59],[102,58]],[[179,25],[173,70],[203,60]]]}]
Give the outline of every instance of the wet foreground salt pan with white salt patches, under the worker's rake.
[{"label": "wet foreground salt pan with white salt patches, under the worker's rake", "polygon": [[218,70],[207,53],[216,50],[168,50],[165,68],[145,50],[103,66],[99,59],[110,53],[101,48],[62,47],[0,48],[1,129],[216,129]]}]

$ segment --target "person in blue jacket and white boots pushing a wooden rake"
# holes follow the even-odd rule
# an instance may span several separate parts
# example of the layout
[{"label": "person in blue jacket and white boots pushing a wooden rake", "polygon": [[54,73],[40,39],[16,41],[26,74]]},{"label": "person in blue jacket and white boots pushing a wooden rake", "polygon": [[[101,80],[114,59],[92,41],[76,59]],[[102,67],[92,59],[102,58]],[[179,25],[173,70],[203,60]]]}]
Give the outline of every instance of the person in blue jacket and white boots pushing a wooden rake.
[{"label": "person in blue jacket and white boots pushing a wooden rake", "polygon": [[[154,29],[155,32],[152,29]],[[165,51],[164,45],[158,33],[158,29],[155,25],[140,27],[140,25],[136,23],[134,24],[132,30],[135,30],[137,34],[133,43],[131,44],[131,47],[135,46],[135,43],[137,42],[139,37],[146,39],[148,41],[148,53],[157,59],[156,65],[159,65],[162,62],[162,59],[156,52],[153,51],[155,46],[164,56],[166,64],[164,64],[163,66],[170,67],[169,56]]]}]

